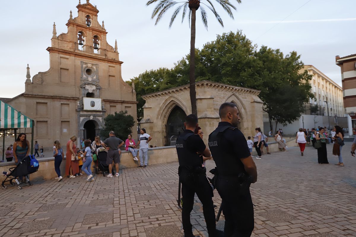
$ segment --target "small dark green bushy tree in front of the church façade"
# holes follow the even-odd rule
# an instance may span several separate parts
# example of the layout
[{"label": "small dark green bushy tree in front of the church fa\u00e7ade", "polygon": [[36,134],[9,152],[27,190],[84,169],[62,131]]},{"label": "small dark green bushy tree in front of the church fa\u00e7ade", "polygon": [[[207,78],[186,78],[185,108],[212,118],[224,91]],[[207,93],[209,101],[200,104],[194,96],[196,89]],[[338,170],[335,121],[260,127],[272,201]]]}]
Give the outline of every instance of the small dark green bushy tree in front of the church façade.
[{"label": "small dark green bushy tree in front of the church fa\u00e7ade", "polygon": [[132,127],[135,121],[127,111],[120,111],[119,113],[109,114],[104,118],[104,128],[101,129],[100,135],[102,138],[108,138],[110,131],[114,131],[115,136],[125,140],[127,135],[132,133]]}]

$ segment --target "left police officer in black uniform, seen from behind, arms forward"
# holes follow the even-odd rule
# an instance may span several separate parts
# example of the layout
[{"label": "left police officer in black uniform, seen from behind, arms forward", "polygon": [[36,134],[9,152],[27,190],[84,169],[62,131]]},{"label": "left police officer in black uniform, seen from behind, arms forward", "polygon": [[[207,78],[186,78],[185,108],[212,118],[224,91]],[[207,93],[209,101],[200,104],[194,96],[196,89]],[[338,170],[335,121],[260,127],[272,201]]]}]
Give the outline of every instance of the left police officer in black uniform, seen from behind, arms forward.
[{"label": "left police officer in black uniform, seen from behind, arms forward", "polygon": [[190,212],[193,210],[194,195],[197,194],[203,204],[203,213],[208,228],[209,237],[217,236],[215,211],[213,207],[213,189],[206,179],[206,169],[202,167],[203,157],[210,157],[210,151],[200,136],[194,134],[198,127],[197,115],[190,114],[185,118],[185,131],[181,133],[176,142],[179,161],[179,179],[182,183],[182,223],[184,237],[194,237]]}]

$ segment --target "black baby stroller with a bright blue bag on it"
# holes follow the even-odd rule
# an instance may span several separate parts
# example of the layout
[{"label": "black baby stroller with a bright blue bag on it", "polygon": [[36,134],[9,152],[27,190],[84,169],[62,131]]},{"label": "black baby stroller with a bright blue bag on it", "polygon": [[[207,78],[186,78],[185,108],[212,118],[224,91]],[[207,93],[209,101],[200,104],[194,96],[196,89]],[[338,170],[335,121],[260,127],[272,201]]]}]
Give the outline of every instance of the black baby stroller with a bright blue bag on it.
[{"label": "black baby stroller with a bright blue bag on it", "polygon": [[27,185],[32,186],[32,183],[30,182],[30,180],[28,180],[27,175],[36,172],[39,167],[40,165],[38,164],[38,161],[36,160],[34,155],[26,156],[25,158],[22,159],[22,161],[19,164],[17,164],[16,167],[11,167],[9,169],[10,172],[7,172],[7,174],[5,175],[6,176],[5,180],[2,181],[1,183],[2,189],[7,188],[7,185],[5,184],[6,182],[9,182],[11,187],[15,186],[15,183],[13,182],[13,180],[15,180],[17,184],[17,189],[21,190],[22,186],[20,186],[20,182],[17,179],[22,176],[25,176]]}]

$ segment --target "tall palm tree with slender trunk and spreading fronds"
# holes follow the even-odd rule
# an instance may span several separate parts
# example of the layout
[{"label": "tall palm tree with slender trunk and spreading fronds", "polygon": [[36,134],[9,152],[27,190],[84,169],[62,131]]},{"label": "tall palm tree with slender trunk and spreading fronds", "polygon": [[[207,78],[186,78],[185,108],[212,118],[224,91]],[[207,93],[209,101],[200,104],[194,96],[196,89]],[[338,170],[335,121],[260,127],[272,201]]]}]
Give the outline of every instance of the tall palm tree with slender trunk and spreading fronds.
[{"label": "tall palm tree with slender trunk and spreading fronds", "polygon": [[[201,20],[203,21],[203,24],[206,29],[208,29],[208,20],[207,20],[207,14],[202,5],[205,5],[208,7],[215,15],[216,19],[220,23],[221,26],[224,27],[223,20],[221,20],[218,12],[216,12],[215,7],[212,3],[213,0],[182,0],[182,1],[174,1],[174,0],[150,0],[147,2],[146,6],[151,5],[155,2],[158,2],[155,9],[152,12],[152,19],[156,17],[156,24],[159,22],[159,20],[162,19],[162,16],[164,15],[165,12],[167,12],[169,9],[171,9],[174,5],[180,4],[176,10],[174,10],[173,15],[171,17],[171,22],[169,22],[169,28],[171,28],[173,21],[176,19],[178,13],[180,10],[183,9],[183,14],[182,14],[182,22],[184,21],[184,17],[187,13],[187,10],[189,8],[188,12],[188,21],[190,23],[190,20],[192,22],[190,26],[190,61],[189,61],[189,90],[190,90],[190,103],[192,105],[192,113],[197,115],[197,100],[196,100],[196,92],[195,92],[195,15],[197,10],[200,8],[200,16]],[[230,0],[215,0],[220,4],[223,9],[229,14],[229,16],[234,19],[234,16],[232,15],[231,9],[236,10],[236,7],[231,4]],[[238,3],[241,3],[241,0],[236,0]],[[205,3],[206,2],[206,3]]]}]

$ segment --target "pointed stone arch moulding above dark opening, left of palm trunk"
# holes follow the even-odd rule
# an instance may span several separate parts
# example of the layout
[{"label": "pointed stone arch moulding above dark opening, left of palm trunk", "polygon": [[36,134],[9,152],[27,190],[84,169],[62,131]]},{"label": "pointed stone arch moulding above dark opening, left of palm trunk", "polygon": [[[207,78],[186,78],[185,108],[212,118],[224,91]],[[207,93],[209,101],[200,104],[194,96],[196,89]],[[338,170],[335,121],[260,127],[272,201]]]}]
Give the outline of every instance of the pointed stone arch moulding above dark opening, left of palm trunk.
[{"label": "pointed stone arch moulding above dark opening, left of palm trunk", "polygon": [[187,106],[181,99],[179,99],[178,97],[175,97],[175,96],[169,96],[159,106],[159,110],[157,113],[157,120],[162,121],[162,124],[166,124],[169,114],[172,112],[173,108],[176,106],[183,109],[185,114],[189,114]]}]

